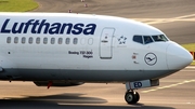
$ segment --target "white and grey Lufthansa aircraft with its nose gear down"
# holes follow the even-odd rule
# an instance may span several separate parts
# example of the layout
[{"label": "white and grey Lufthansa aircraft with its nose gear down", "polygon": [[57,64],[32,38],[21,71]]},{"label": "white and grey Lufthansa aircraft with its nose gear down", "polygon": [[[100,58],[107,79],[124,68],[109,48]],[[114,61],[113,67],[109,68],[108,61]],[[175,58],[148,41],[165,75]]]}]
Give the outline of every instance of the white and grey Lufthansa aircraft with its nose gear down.
[{"label": "white and grey Lufthansa aircraft with its nose gear down", "polygon": [[87,82],[123,83],[134,90],[192,63],[192,55],[152,26],[102,15],[0,13],[0,80],[32,81],[38,86]]}]

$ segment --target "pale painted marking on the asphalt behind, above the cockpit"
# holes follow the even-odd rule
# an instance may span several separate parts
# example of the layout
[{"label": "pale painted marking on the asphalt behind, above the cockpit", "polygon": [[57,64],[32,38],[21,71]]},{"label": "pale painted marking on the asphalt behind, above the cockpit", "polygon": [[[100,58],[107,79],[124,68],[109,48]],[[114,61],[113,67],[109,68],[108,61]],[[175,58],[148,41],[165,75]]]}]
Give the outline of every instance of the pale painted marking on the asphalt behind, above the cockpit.
[{"label": "pale painted marking on the asphalt behind, above the cockpit", "polygon": [[[190,18],[193,17],[193,18]],[[183,15],[172,18],[132,18],[134,21],[144,22],[145,24],[161,24],[171,22],[195,22],[195,14]]]}]

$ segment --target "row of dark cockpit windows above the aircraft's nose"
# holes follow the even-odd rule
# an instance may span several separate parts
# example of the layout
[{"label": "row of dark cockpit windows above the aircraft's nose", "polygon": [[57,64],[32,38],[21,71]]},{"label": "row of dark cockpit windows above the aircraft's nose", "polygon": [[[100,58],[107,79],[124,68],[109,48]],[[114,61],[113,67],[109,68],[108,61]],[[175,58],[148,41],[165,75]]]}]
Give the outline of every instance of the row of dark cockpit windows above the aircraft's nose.
[{"label": "row of dark cockpit windows above the aircraft's nose", "polygon": [[164,35],[156,36],[133,36],[133,41],[141,44],[148,44],[152,42],[166,42],[169,41],[168,38]]}]

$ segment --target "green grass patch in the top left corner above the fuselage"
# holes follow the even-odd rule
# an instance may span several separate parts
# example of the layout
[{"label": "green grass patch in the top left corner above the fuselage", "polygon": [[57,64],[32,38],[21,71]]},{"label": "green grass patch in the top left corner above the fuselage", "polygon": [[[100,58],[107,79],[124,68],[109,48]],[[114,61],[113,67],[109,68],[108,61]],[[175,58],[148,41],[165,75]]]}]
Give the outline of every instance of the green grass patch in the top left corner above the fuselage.
[{"label": "green grass patch in the top left corner above the fuselage", "polygon": [[34,0],[0,0],[0,12],[27,12],[38,8]]}]

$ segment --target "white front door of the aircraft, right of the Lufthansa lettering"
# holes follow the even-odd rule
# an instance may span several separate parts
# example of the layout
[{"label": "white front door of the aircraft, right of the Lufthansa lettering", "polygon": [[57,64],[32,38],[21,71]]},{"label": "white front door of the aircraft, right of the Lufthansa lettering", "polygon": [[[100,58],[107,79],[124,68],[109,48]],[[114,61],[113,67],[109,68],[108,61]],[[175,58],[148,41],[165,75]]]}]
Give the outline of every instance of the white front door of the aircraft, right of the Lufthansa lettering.
[{"label": "white front door of the aircraft, right of the Lufthansa lettering", "polygon": [[104,28],[100,38],[100,57],[110,59],[113,56],[113,37],[115,28]]}]

